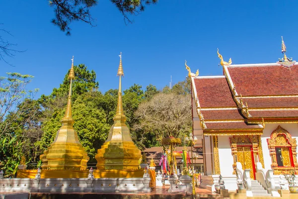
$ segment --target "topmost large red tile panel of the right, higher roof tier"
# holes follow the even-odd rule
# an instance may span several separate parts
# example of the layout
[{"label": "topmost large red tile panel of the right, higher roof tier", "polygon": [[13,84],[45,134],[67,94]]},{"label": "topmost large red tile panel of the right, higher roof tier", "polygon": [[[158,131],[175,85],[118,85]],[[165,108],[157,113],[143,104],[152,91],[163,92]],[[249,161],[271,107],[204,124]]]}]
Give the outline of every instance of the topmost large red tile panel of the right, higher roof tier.
[{"label": "topmost large red tile panel of the right, higher roof tier", "polygon": [[298,95],[298,65],[229,66],[237,93],[242,96]]}]

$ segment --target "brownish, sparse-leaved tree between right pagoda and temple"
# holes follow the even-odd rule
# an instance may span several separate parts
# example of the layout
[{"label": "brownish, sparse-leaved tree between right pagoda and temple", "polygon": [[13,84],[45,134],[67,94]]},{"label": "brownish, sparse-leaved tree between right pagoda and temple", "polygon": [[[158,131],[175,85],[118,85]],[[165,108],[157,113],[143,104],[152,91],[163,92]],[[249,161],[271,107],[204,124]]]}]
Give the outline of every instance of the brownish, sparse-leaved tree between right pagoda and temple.
[{"label": "brownish, sparse-leaved tree between right pagoda and temple", "polygon": [[191,131],[190,95],[156,94],[140,104],[135,114],[139,123],[134,125],[134,131],[138,132],[136,136],[143,147],[152,144],[149,140],[156,144],[164,137],[182,138]]}]

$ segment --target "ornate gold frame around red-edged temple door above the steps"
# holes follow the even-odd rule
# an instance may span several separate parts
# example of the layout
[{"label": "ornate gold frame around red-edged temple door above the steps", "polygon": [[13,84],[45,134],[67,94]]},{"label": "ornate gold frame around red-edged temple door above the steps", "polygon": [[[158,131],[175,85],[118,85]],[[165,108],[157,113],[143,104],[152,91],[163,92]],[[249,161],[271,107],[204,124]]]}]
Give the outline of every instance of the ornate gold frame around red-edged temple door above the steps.
[{"label": "ornate gold frame around red-edged temple door above the steps", "polygon": [[252,146],[255,171],[256,171],[257,162],[260,162],[264,168],[261,136],[260,135],[233,135],[233,137],[230,137],[230,146],[231,146],[232,156],[234,161],[234,164],[232,165],[234,170],[233,174],[236,175],[237,146],[241,146],[241,145]]}]

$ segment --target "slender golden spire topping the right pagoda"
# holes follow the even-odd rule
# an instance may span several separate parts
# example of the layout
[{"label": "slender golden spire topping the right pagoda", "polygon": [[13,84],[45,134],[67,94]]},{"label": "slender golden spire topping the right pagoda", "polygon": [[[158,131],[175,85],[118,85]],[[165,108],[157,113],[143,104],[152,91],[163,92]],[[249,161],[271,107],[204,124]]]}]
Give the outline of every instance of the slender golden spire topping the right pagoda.
[{"label": "slender golden spire topping the right pagoda", "polygon": [[126,121],[126,116],[124,115],[123,105],[122,105],[122,90],[121,90],[121,76],[124,76],[123,68],[122,68],[122,53],[120,52],[120,64],[118,68],[117,76],[119,76],[119,90],[118,90],[118,103],[117,103],[117,110],[114,116],[114,120],[120,119]]}]

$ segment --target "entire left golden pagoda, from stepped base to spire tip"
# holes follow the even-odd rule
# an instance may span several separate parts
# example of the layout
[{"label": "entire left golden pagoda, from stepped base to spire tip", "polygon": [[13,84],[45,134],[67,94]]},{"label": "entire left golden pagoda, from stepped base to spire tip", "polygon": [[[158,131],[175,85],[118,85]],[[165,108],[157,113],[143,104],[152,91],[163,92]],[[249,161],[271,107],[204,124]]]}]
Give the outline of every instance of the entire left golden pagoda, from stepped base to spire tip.
[{"label": "entire left golden pagoda, from stepped base to spire tip", "polygon": [[78,140],[74,130],[72,117],[72,83],[74,80],[74,57],[70,70],[70,90],[66,111],[61,120],[62,126],[58,130],[56,138],[51,146],[40,156],[42,169],[86,169],[89,157]]}]

